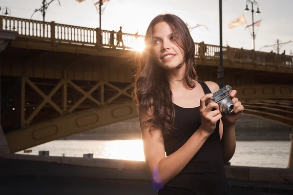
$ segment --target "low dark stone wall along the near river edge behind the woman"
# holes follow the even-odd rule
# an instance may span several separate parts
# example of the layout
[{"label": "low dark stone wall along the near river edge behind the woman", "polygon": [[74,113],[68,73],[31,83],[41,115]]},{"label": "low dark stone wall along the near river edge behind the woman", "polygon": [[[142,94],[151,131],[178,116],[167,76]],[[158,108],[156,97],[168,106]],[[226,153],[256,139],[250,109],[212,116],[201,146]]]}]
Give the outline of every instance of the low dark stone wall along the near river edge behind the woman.
[{"label": "low dark stone wall along the near river edge behind the woman", "polygon": [[[10,163],[9,163],[10,159]],[[12,160],[17,161],[12,161]],[[33,156],[33,155],[6,155],[3,156],[6,160],[6,166],[12,167],[0,172],[0,176],[66,176],[66,177],[102,177],[102,178],[120,178],[120,179],[149,179],[146,170],[145,161],[134,160],[117,160],[117,159],[101,159],[101,158],[80,158],[80,157],[63,157],[63,156]],[[22,161],[20,161],[22,160]],[[1,158],[0,158],[1,162]],[[48,168],[39,166],[42,162],[47,162],[53,169],[48,171]],[[14,166],[19,163],[19,166]],[[26,163],[23,166],[23,163]],[[3,163],[4,164],[4,163]],[[22,164],[22,165],[21,165]],[[33,165],[32,165],[33,164]],[[67,164],[65,167],[64,165]],[[59,166],[58,166],[59,165]],[[80,167],[70,166],[79,165],[84,167],[94,167],[91,171],[78,171]],[[32,166],[30,168],[27,168]],[[56,167],[58,166],[58,167]],[[25,168],[24,168],[25,167]],[[97,169],[103,168],[104,172],[107,169],[114,169],[113,172],[103,174],[96,173]],[[68,170],[69,169],[69,170]],[[88,169],[88,168],[87,168]],[[127,173],[121,174],[121,171]],[[133,172],[131,172],[133,171]],[[79,173],[79,175],[76,175]],[[236,181],[250,181],[250,182],[266,182],[266,187],[272,186],[270,183],[283,183],[292,187],[293,183],[293,169],[283,168],[266,168],[266,167],[243,167],[243,166],[225,166],[225,173],[228,179]],[[41,175],[40,175],[41,174]],[[270,183],[269,183],[270,182]],[[275,186],[275,185],[274,185]],[[242,186],[243,187],[243,186]],[[259,190],[259,189],[258,189]],[[288,191],[289,192],[289,191]],[[291,192],[291,191],[290,191]]]}]

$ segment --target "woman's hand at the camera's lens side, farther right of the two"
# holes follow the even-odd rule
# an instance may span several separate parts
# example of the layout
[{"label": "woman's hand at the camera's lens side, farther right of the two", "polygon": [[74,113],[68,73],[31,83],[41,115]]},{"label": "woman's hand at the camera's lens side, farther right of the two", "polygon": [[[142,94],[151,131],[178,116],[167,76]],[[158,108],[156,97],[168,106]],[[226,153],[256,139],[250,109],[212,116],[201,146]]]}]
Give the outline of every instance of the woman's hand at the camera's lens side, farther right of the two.
[{"label": "woman's hand at the camera's lens side, farther right of the two", "polygon": [[234,109],[233,112],[229,115],[222,115],[222,121],[223,123],[229,122],[229,123],[235,123],[238,117],[243,113],[244,107],[241,105],[241,102],[238,101],[238,98],[235,98],[237,94],[236,90],[232,90],[230,93],[230,96],[232,97],[231,101],[234,102]]}]

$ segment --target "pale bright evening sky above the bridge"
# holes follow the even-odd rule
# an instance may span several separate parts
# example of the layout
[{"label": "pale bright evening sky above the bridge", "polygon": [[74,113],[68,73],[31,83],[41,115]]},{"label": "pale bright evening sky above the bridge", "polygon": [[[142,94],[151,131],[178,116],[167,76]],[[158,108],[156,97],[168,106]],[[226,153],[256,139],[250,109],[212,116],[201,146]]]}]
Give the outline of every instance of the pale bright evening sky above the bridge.
[{"label": "pale bright evening sky above the bridge", "polygon": [[[47,2],[51,0],[46,0]],[[47,10],[45,21],[84,26],[99,27],[99,12],[93,2],[98,0],[58,0],[52,2]],[[263,47],[293,40],[293,0],[256,0],[260,15],[254,4],[254,22],[261,20],[259,27],[255,27],[255,50],[276,52],[276,47]],[[41,7],[42,0],[0,0],[3,15],[5,7],[11,10],[11,16],[30,19],[34,10]],[[251,4],[248,4],[251,10]],[[175,14],[187,22],[189,26],[202,24],[191,31],[194,42],[204,41],[207,44],[219,45],[219,0],[109,0],[103,5],[102,29],[118,31],[122,26],[125,33],[145,35],[150,21],[159,14]],[[252,23],[251,11],[245,13],[246,0],[222,0],[223,45],[230,47],[252,49],[251,32],[245,30],[246,25],[233,29],[228,23],[244,15],[247,23]],[[32,17],[42,20],[41,12]],[[286,50],[286,55],[292,55],[293,42],[281,46],[280,53]]]}]

